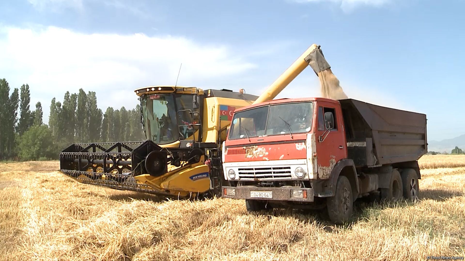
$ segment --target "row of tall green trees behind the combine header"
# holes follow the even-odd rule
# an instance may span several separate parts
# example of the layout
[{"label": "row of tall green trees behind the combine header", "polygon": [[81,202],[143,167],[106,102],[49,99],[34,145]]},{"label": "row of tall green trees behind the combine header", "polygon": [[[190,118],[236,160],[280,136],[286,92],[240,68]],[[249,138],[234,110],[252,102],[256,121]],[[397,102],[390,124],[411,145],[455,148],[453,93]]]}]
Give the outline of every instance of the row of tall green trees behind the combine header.
[{"label": "row of tall green trees behind the combine header", "polygon": [[132,110],[97,107],[95,91],[66,91],[63,101],[53,98],[48,124],[42,104],[30,108],[29,85],[10,87],[0,79],[0,160],[56,159],[73,143],[144,140],[140,105]]}]

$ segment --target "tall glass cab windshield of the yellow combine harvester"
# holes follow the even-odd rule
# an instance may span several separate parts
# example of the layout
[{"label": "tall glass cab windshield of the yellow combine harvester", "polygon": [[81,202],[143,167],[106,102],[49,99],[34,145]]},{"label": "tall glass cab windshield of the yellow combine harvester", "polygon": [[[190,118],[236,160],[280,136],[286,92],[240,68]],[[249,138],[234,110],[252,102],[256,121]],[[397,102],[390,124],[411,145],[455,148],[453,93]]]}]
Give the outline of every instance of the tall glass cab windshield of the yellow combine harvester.
[{"label": "tall glass cab windshield of the yellow combine harvester", "polygon": [[147,139],[156,144],[169,144],[186,139],[198,129],[190,112],[192,94],[154,94],[142,98],[142,117]]}]

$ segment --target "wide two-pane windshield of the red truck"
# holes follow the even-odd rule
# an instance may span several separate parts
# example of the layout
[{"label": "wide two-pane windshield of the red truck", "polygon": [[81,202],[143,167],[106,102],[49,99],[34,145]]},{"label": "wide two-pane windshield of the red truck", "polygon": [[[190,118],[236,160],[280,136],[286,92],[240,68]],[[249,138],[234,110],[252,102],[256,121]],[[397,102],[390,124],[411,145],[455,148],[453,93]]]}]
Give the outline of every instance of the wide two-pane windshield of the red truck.
[{"label": "wide two-pane windshield of the red truck", "polygon": [[313,103],[266,105],[234,114],[229,139],[304,133],[312,129]]}]

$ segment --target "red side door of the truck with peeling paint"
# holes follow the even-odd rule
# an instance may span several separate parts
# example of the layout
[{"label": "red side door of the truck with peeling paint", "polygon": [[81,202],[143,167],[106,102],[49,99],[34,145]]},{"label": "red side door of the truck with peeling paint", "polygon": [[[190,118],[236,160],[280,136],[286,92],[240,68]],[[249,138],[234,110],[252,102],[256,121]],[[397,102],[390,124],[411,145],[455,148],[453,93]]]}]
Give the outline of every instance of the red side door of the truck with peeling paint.
[{"label": "red side door of the truck with peeling paint", "polygon": [[[326,130],[325,113],[332,114],[334,125]],[[342,115],[336,104],[319,104],[315,131],[318,178],[329,178],[332,168],[341,159],[347,157]]]}]

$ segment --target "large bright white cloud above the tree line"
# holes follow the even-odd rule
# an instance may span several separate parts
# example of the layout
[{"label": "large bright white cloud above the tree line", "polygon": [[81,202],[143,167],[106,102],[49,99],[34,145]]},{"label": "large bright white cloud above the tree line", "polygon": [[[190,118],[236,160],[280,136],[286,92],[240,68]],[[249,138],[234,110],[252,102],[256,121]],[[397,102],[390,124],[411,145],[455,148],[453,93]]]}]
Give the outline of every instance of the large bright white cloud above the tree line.
[{"label": "large bright white cloud above the tree line", "polygon": [[[99,107],[133,108],[133,90],[147,85],[221,82],[254,68],[228,46],[200,45],[183,37],[77,33],[59,27],[0,29],[0,75],[11,88],[29,84],[48,117],[50,100],[65,91],[96,91]],[[201,86],[199,86],[201,87]],[[33,107],[32,105],[31,107]],[[44,118],[44,121],[47,120]]]}]

